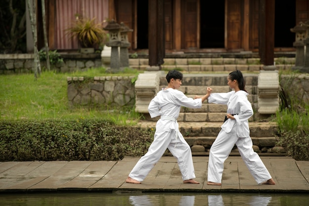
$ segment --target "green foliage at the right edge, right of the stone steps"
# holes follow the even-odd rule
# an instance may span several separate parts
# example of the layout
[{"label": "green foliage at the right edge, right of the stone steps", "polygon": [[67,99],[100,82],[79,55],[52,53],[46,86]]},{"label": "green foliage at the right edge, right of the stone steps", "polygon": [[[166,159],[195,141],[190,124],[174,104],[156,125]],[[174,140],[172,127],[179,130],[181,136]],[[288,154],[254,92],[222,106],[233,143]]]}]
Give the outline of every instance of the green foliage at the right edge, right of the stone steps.
[{"label": "green foliage at the right edge, right of the stone steps", "polygon": [[309,104],[298,97],[300,91],[291,92],[291,88],[297,88],[292,85],[295,75],[291,73],[280,82],[280,110],[276,112],[279,138],[276,145],[285,147],[296,160],[309,160]]}]

